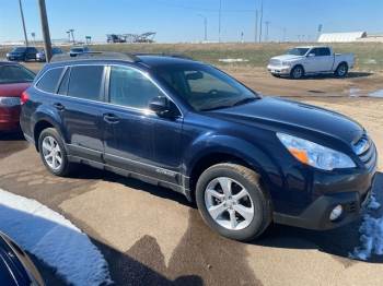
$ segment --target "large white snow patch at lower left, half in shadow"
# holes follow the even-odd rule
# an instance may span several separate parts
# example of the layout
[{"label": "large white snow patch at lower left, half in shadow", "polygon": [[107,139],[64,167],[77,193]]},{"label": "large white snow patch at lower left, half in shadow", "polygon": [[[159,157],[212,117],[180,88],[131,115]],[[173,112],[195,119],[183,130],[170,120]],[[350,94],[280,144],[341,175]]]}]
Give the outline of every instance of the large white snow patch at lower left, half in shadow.
[{"label": "large white snow patch at lower left, half in shadow", "polygon": [[0,189],[0,230],[57,270],[71,285],[111,284],[103,254],[62,215]]}]

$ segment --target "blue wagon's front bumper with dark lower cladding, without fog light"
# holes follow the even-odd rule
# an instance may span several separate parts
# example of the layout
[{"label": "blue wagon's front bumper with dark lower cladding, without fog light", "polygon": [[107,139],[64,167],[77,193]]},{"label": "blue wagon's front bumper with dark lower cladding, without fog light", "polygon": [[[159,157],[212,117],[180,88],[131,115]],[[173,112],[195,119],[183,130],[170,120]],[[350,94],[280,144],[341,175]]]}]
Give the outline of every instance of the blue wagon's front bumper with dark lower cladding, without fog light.
[{"label": "blue wagon's front bumper with dark lower cladding, without fog light", "polygon": [[[376,172],[378,156],[374,165],[365,171],[349,175],[314,176],[315,198],[301,213],[274,213],[274,222],[283,225],[314,230],[326,230],[349,224],[360,217],[360,211],[369,201]],[[330,221],[335,206],[343,206],[338,219]]]}]

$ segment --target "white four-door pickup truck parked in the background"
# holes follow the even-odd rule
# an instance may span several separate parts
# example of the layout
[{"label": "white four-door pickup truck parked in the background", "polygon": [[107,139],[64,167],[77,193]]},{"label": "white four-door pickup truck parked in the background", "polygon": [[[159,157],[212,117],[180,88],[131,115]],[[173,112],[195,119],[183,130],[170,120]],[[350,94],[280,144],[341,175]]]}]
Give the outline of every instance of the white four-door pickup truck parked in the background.
[{"label": "white four-door pickup truck parked in the background", "polygon": [[353,53],[334,53],[330,47],[297,47],[286,55],[274,57],[267,65],[275,76],[301,79],[305,74],[334,73],[344,78],[353,68]]}]

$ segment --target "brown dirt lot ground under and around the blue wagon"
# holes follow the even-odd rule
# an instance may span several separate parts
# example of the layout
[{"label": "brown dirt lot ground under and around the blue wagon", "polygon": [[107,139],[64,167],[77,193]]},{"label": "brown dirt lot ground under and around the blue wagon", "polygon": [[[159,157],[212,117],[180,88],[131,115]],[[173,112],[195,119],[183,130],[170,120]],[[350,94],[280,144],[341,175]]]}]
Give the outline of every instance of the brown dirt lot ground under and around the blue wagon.
[{"label": "brown dirt lot ground under and around the blue wagon", "polygon": [[[383,98],[362,97],[383,88],[381,74],[291,81],[262,69],[225,70],[265,95],[350,116],[383,153]],[[169,190],[88,167],[72,178],[54,177],[18,136],[0,138],[0,188],[36,199],[83,229],[117,285],[383,285],[383,257],[348,258],[360,245],[361,219],[323,233],[275,225],[257,241],[240,243],[213,234],[194,205]],[[382,189],[380,168],[374,191],[381,203]],[[39,266],[51,285],[62,283]]]}]

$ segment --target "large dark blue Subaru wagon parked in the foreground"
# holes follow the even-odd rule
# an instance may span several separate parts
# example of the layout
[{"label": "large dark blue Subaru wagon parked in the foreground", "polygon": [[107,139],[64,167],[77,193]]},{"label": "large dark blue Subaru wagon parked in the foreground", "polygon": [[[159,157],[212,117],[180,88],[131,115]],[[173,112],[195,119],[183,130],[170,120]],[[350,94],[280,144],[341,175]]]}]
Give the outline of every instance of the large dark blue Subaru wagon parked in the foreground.
[{"label": "large dark blue Subaru wagon parked in the foreground", "polygon": [[66,176],[81,163],[167,187],[237,240],[271,222],[351,222],[376,168],[374,143],[356,121],[263,97],[179,57],[49,63],[26,91],[21,126],[50,172]]}]

